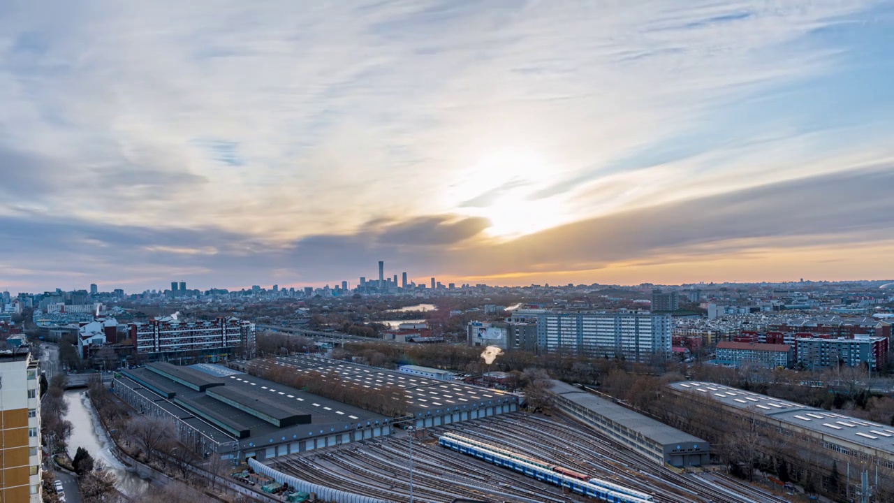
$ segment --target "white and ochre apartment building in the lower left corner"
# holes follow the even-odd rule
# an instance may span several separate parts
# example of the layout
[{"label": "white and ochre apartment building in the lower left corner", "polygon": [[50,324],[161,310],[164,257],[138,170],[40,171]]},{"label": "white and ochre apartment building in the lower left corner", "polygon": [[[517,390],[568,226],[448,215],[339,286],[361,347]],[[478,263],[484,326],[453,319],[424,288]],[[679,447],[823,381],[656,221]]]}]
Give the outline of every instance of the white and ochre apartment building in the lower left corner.
[{"label": "white and ochre apartment building in the lower left corner", "polygon": [[0,501],[42,501],[38,361],[28,347],[0,352]]}]

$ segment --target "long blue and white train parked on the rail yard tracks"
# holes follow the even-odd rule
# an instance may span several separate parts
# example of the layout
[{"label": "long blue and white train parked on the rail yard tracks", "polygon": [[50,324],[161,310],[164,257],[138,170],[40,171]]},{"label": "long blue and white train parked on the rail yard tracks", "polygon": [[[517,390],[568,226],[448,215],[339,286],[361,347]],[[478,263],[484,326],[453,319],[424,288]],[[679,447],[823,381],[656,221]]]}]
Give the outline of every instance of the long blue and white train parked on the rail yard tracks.
[{"label": "long blue and white train parked on the rail yard tracks", "polygon": [[[550,482],[557,486],[568,488],[569,490],[577,494],[583,494],[593,498],[603,499],[604,501],[609,501],[611,503],[645,503],[647,501],[653,500],[652,496],[639,491],[622,488],[626,491],[636,492],[641,495],[634,496],[592,483],[593,481],[598,481],[598,479],[593,479],[593,481],[591,482],[578,481],[578,479],[563,475],[561,473],[553,472],[552,470],[549,470],[542,466],[531,465],[530,463],[526,463],[519,459],[513,459],[509,456],[493,452],[492,450],[473,446],[460,439],[451,439],[449,436],[446,435],[438,439],[438,443],[445,448],[451,448],[462,454],[475,456],[479,459],[484,459],[488,463],[493,463],[493,465],[502,466],[504,468],[509,468],[510,470],[515,470],[519,473],[524,473],[528,477],[533,477],[538,481]],[[611,485],[620,487],[616,484]]]}]

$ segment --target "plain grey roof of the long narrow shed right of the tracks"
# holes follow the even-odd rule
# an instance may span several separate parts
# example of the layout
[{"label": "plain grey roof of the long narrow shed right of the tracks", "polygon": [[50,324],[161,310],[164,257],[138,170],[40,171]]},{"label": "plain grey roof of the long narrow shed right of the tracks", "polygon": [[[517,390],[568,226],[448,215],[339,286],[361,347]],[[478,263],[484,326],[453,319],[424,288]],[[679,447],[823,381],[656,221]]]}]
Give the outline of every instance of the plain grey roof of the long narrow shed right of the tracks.
[{"label": "plain grey roof of the long narrow shed right of the tracks", "polygon": [[550,391],[556,395],[561,395],[562,397],[571,400],[575,404],[586,407],[612,422],[623,424],[631,430],[638,431],[639,433],[642,433],[644,437],[653,439],[662,445],[676,444],[679,442],[708,443],[704,439],[699,439],[685,431],[671,428],[663,422],[655,421],[641,413],[631,411],[627,407],[615,404],[609,400],[604,400],[592,393],[588,393],[583,389],[576,388],[559,380],[551,381]]}]

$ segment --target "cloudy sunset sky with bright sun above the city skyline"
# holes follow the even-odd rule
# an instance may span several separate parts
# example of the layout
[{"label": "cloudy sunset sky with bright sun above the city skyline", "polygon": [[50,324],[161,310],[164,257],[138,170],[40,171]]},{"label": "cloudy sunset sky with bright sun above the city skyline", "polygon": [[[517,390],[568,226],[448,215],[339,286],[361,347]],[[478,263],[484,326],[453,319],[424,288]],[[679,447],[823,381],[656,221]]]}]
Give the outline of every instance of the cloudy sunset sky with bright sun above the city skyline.
[{"label": "cloudy sunset sky with bright sun above the city skyline", "polygon": [[894,3],[5,0],[0,289],[894,278]]}]

